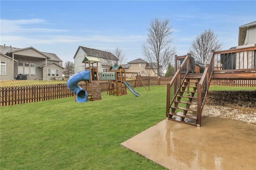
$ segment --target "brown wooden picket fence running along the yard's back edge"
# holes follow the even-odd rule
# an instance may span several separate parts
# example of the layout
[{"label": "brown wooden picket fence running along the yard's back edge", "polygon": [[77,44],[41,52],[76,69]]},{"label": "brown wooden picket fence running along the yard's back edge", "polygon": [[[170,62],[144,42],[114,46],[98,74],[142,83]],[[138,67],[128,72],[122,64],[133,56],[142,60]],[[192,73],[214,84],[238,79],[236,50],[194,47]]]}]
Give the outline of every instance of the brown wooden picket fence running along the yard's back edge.
[{"label": "brown wooden picket fence running along the yard's back edge", "polygon": [[[167,85],[171,78],[142,80],[142,83],[147,87],[148,85]],[[135,80],[127,80],[127,82],[134,87]],[[80,82],[80,87],[91,93],[90,84]],[[212,80],[211,85],[216,86],[236,86],[236,87],[256,87],[256,80]],[[141,87],[138,84],[136,87]],[[101,92],[108,91],[108,81],[100,81]],[[31,103],[38,101],[53,100],[65,97],[72,97],[74,94],[68,90],[66,83],[50,84],[50,85],[27,85],[15,87],[0,87],[0,106],[17,105],[22,103]]]}]

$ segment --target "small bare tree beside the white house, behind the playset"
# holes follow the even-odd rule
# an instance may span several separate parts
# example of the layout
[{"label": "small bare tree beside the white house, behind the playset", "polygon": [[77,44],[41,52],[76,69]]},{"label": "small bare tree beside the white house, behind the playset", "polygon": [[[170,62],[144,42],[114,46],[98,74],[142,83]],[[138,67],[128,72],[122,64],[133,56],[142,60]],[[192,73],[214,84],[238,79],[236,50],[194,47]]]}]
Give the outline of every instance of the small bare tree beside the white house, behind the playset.
[{"label": "small bare tree beside the white house, behind the playset", "polygon": [[125,62],[126,62],[125,54],[123,53],[121,48],[116,47],[112,53],[105,51],[104,61],[102,62],[102,64],[111,66],[113,64],[121,64]]}]

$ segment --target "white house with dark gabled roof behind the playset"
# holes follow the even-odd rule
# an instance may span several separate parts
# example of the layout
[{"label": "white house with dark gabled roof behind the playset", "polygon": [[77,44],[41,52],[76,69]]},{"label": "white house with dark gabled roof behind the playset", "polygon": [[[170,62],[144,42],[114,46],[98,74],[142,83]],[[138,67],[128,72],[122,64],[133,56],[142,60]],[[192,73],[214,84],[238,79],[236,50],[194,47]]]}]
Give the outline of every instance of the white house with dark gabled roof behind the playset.
[{"label": "white house with dark gabled roof behind the playset", "polygon": [[118,61],[118,58],[111,52],[98,49],[79,46],[74,55],[74,73],[78,73],[85,69],[85,63],[82,63],[84,57],[94,57],[100,60],[98,63],[98,71],[107,72],[110,66]]}]

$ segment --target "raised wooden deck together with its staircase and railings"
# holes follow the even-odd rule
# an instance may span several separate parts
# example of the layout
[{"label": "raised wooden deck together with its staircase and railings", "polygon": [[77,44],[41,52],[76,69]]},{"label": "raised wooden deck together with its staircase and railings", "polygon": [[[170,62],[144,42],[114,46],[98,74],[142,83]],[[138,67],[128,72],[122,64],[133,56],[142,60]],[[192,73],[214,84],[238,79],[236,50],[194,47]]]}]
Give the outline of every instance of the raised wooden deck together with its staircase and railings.
[{"label": "raised wooden deck together with its staircase and railings", "polygon": [[176,73],[167,84],[166,119],[200,127],[202,109],[212,79],[256,79],[256,68],[244,65],[241,69],[240,63],[234,67],[228,62],[232,55],[239,57],[239,60],[248,59],[248,56],[252,58],[253,55],[255,57],[256,45],[222,51],[212,50],[202,74],[193,69],[194,63],[189,53],[183,56],[175,55]]}]

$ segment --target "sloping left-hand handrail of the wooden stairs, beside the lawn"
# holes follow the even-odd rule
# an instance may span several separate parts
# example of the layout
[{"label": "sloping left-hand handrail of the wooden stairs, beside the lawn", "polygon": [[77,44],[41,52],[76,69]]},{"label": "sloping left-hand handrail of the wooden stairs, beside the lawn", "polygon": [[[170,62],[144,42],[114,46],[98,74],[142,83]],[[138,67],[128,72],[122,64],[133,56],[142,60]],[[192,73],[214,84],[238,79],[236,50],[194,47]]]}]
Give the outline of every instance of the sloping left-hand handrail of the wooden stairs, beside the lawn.
[{"label": "sloping left-hand handrail of the wooden stairs, beside the lawn", "polygon": [[182,83],[184,82],[186,76],[189,73],[189,57],[190,57],[190,54],[187,53],[184,61],[182,62],[180,67],[177,68],[177,71],[172,77],[172,80],[170,81],[170,83],[167,84],[167,95],[166,95],[166,118],[167,119],[168,119],[168,113],[170,111],[170,106],[174,102]]}]

